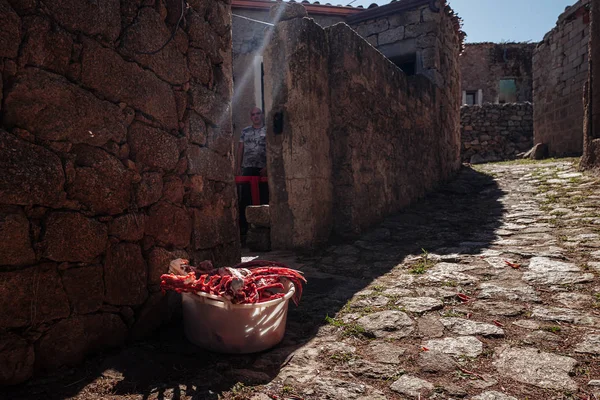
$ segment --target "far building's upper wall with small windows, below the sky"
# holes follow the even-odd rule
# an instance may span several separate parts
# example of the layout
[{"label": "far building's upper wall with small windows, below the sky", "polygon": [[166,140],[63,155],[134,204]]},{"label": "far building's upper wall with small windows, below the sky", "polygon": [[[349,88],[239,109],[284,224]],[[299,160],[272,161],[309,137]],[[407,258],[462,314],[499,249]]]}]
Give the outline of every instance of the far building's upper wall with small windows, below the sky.
[{"label": "far building's upper wall with small windows, below the sky", "polygon": [[[463,99],[477,93],[475,104],[498,103],[501,79],[514,79],[514,103],[531,102],[533,43],[467,43],[460,55]],[[466,101],[463,101],[466,103]]]}]

